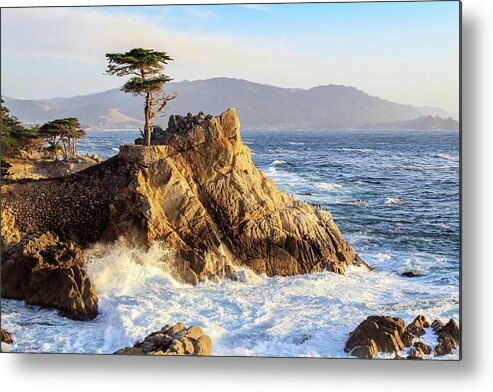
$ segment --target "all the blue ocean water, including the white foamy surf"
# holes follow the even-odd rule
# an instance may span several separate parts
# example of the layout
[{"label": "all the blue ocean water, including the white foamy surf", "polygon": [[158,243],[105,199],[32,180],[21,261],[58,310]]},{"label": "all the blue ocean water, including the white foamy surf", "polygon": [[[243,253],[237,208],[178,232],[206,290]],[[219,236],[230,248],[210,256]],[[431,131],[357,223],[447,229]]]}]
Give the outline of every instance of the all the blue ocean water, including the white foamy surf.
[{"label": "all the blue ocean water, including the white foamy surf", "polygon": [[[88,132],[79,148],[107,158],[137,136]],[[100,316],[76,322],[2,300],[10,350],[112,353],[183,321],[205,329],[215,355],[347,358],[348,333],[370,315],[459,321],[458,132],[243,131],[242,138],[281,190],[331,211],[373,272],[269,278],[242,270],[239,281],[191,286],[170,277],[173,253],[159,244],[146,252],[124,241],[97,245],[86,252],[86,269]],[[433,342],[433,333],[423,339]]]}]

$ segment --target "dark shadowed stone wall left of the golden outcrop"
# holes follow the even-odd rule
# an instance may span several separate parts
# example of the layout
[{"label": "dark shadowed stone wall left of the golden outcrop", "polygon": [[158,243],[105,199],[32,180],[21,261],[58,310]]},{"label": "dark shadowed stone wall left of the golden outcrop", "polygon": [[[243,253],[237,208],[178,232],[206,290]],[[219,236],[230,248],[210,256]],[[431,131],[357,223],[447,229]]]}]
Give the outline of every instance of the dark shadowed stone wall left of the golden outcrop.
[{"label": "dark shadowed stone wall left of the golden outcrop", "polygon": [[[108,224],[110,204],[132,181],[138,165],[112,158],[69,177],[2,185],[3,223],[21,235],[53,231],[81,244],[96,241]],[[14,229],[2,224],[2,240]]]}]

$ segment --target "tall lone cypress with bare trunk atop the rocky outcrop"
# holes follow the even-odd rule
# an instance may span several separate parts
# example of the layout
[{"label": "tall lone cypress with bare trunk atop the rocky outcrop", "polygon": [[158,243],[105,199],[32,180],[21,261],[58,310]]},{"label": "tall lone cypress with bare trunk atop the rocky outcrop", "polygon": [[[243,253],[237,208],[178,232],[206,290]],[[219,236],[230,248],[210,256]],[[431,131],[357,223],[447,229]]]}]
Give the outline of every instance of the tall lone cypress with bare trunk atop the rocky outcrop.
[{"label": "tall lone cypress with bare trunk atop the rocky outcrop", "polygon": [[164,66],[173,59],[166,52],[142,48],[132,49],[125,53],[107,53],[106,58],[109,61],[106,72],[109,75],[132,76],[123,85],[122,90],[145,97],[144,145],[149,146],[153,119],[164,110],[170,100],[177,96],[176,93],[164,94],[163,92],[164,85],[173,79],[162,71]]}]

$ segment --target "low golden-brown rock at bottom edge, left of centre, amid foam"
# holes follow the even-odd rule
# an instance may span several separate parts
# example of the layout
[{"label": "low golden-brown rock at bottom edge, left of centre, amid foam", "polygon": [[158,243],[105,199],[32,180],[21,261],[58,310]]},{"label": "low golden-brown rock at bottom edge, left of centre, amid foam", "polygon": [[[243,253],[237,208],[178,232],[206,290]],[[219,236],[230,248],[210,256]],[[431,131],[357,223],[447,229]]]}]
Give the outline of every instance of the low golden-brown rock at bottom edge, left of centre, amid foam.
[{"label": "low golden-brown rock at bottom edge, left of centre, amid foam", "polygon": [[125,355],[212,355],[212,341],[202,328],[185,324],[166,325],[133,347],[115,352]]}]

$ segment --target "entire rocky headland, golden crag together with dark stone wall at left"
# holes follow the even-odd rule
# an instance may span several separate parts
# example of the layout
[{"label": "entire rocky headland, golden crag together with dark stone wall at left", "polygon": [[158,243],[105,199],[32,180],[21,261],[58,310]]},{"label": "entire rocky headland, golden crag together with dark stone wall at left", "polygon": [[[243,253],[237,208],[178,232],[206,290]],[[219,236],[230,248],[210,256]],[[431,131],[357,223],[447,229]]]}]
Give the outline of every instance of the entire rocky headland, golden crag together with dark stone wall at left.
[{"label": "entire rocky headland, golden crag together with dark stone wall at left", "polygon": [[254,167],[234,109],[171,116],[153,143],[123,146],[67,178],[2,187],[2,214],[18,233],[10,241],[47,230],[82,244],[160,241],[176,251],[172,272],[190,283],[232,276],[235,265],[269,276],[369,268],[330,213],[280,192]]}]

